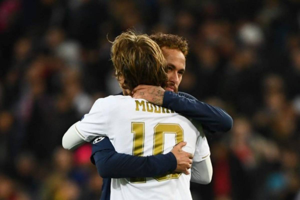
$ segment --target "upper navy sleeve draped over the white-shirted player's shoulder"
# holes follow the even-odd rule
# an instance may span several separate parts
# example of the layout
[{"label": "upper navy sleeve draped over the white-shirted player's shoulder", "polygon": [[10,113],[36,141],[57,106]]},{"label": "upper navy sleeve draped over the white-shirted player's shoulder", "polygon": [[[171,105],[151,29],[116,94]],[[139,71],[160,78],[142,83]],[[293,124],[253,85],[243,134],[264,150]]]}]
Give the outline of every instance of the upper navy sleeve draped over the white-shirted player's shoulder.
[{"label": "upper navy sleeve draped over the white-shirted player's shoulder", "polygon": [[162,106],[199,121],[212,132],[226,132],[232,128],[232,118],[225,111],[183,92],[165,91]]}]

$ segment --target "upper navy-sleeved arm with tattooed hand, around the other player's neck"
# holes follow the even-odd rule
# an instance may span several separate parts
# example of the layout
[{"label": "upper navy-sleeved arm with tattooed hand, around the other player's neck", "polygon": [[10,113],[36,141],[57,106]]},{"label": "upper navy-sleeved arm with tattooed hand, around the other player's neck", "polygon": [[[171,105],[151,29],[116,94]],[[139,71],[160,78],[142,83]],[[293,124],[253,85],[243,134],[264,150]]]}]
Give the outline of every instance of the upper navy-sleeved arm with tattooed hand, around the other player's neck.
[{"label": "upper navy-sleeved arm with tattooed hand, around the other player's neck", "polygon": [[139,85],[134,88],[135,98],[143,98],[151,103],[172,109],[177,113],[199,121],[205,129],[212,132],[226,132],[232,128],[232,118],[222,109],[197,100],[195,97],[179,92],[165,91],[161,87]]}]

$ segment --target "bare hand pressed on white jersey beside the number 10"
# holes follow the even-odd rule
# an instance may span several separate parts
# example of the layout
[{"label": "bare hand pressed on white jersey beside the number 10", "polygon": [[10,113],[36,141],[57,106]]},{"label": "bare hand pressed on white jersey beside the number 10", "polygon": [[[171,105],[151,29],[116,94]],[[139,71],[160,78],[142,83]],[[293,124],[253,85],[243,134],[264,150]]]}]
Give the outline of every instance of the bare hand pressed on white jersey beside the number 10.
[{"label": "bare hand pressed on white jersey beside the number 10", "polygon": [[174,154],[177,160],[175,172],[183,172],[184,174],[188,175],[190,174],[188,169],[191,168],[193,163],[193,154],[182,150],[182,147],[184,147],[186,144],[186,142],[179,142],[176,146],[174,146],[171,152]]}]

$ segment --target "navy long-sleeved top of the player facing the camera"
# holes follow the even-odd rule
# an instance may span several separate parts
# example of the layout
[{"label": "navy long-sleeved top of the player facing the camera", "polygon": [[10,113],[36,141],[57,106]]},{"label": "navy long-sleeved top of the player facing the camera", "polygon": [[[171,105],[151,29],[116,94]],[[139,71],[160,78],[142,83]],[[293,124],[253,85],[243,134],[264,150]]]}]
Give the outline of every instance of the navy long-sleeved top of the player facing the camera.
[{"label": "navy long-sleeved top of the player facing the camera", "polygon": [[[163,106],[199,121],[209,131],[228,131],[232,127],[232,118],[222,109],[198,101],[186,93],[166,91]],[[110,178],[152,177],[174,171],[177,166],[172,153],[149,157],[117,153],[108,138],[92,144],[92,147],[92,162],[96,163],[102,177],[109,177],[103,179],[101,200],[110,199]]]}]

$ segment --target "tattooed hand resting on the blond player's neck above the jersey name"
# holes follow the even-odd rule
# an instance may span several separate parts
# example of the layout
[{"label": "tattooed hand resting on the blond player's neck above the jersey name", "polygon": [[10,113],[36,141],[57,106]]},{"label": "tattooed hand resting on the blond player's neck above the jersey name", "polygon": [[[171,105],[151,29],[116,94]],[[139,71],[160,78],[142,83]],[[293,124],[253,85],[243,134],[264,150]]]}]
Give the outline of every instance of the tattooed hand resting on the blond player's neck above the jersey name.
[{"label": "tattooed hand resting on the blond player's neck above the jersey name", "polygon": [[132,91],[132,97],[145,99],[151,103],[162,106],[165,90],[160,86],[138,85]]}]

